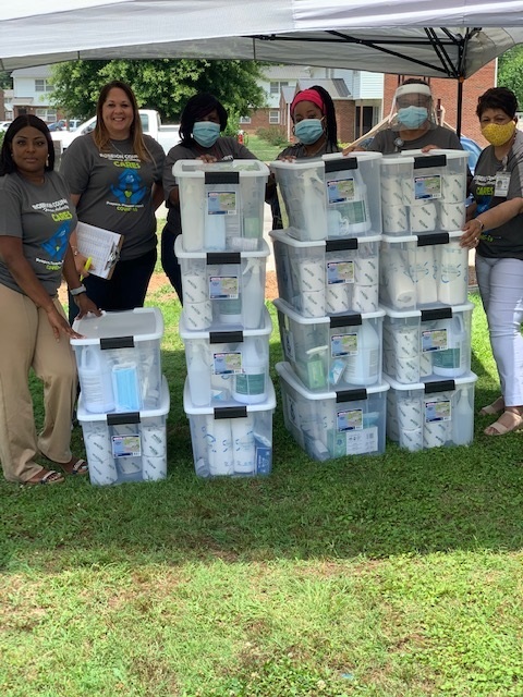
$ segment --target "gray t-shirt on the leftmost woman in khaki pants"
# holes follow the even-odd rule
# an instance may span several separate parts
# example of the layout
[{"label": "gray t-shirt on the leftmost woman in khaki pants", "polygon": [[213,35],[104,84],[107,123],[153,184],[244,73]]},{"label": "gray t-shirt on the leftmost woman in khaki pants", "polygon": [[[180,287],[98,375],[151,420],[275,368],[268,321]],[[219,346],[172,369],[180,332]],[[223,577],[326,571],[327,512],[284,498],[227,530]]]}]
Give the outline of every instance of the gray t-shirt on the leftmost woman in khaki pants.
[{"label": "gray t-shirt on the leftmost woman in khaki pants", "polygon": [[[16,173],[0,176],[0,235],[22,240],[24,257],[51,296],[60,286],[69,236],[75,228],[76,212],[58,172],[46,172],[41,185]],[[24,293],[1,259],[0,283]]]}]

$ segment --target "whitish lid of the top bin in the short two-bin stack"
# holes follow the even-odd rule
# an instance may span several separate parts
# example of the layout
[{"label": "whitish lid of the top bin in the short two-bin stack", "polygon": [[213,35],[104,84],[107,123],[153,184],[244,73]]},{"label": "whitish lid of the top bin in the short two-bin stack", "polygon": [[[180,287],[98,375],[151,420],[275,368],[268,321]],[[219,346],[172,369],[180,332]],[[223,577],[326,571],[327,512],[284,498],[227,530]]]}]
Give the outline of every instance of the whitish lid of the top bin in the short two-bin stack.
[{"label": "whitish lid of the top bin in the short two-bin stack", "polygon": [[136,307],[122,313],[106,313],[100,317],[89,315],[76,319],[74,331],[83,339],[71,339],[73,346],[99,343],[100,339],[133,337],[134,341],[151,341],[163,335],[163,316],[158,307]]}]

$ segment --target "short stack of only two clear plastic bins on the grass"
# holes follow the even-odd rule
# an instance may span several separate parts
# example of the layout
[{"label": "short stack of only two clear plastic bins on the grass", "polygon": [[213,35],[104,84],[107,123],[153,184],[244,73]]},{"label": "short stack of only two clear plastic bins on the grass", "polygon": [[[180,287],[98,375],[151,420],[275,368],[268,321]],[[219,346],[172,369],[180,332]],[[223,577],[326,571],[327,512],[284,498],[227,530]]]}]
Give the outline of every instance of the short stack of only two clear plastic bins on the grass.
[{"label": "short stack of only two clear plastic bins on the grass", "polygon": [[94,485],[167,475],[169,390],[161,377],[158,308],[105,313],[74,322],[82,425]]}]

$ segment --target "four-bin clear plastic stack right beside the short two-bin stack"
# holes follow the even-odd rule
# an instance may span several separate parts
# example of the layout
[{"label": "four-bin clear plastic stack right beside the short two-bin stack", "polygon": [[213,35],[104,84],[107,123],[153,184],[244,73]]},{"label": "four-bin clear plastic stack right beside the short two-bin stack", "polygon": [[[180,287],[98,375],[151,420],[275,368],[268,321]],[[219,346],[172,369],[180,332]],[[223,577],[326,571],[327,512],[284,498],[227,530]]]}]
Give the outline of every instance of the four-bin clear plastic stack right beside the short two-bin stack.
[{"label": "four-bin clear plastic stack right beside the short two-bin stack", "polygon": [[182,218],[174,252],[184,303],[183,401],[195,470],[202,477],[268,474],[275,393],[263,232],[269,170],[257,160],[180,160],[173,174]]}]

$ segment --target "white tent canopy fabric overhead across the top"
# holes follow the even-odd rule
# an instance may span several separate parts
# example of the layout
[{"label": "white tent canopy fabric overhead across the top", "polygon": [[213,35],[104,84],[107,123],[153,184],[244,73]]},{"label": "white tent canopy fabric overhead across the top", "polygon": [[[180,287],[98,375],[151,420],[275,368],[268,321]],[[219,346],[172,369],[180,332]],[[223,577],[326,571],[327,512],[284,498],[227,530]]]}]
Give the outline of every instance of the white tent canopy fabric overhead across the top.
[{"label": "white tent canopy fabric overhead across the top", "polygon": [[522,0],[24,0],[0,8],[2,70],[209,58],[457,78],[520,42]]}]

